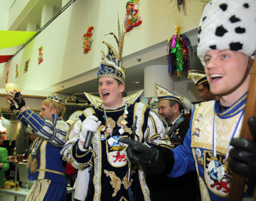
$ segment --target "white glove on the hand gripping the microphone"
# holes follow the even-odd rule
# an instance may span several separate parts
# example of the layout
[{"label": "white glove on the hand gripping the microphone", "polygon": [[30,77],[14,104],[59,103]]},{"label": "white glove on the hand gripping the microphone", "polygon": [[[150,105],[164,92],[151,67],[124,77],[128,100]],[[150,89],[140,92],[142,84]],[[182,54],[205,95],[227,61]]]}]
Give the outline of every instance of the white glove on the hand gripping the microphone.
[{"label": "white glove on the hand gripping the microphone", "polygon": [[80,139],[84,142],[86,140],[86,135],[88,131],[92,131],[93,133],[97,131],[101,124],[101,121],[98,121],[98,118],[94,115],[88,116],[82,122],[81,132],[79,134]]}]

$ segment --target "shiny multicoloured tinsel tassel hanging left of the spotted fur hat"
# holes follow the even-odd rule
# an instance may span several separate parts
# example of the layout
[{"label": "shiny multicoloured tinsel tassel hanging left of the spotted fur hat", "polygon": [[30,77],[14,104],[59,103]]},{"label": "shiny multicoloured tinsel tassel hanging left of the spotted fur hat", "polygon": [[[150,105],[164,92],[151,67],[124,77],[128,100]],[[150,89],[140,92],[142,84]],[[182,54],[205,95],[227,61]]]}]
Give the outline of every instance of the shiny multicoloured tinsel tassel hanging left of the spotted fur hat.
[{"label": "shiny multicoloured tinsel tassel hanging left of the spotted fur hat", "polygon": [[175,26],[176,34],[168,39],[167,57],[170,76],[181,77],[184,72],[190,70],[189,52],[192,47],[189,38],[180,34],[180,26]]}]

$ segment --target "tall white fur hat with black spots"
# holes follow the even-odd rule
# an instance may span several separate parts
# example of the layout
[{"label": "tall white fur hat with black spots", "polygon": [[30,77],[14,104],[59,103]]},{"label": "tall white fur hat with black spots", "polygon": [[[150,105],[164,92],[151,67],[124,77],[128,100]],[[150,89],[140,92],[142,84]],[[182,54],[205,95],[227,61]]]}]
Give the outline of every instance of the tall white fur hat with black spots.
[{"label": "tall white fur hat with black spots", "polygon": [[256,49],[256,1],[212,0],[202,13],[198,30],[197,55],[212,49],[231,49],[254,59]]}]

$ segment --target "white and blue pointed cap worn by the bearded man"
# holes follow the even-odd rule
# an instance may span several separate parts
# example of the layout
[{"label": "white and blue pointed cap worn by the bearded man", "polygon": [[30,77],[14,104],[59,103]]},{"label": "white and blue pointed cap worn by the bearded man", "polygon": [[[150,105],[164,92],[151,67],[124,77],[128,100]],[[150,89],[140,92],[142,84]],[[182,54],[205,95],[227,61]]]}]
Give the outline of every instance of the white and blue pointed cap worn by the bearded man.
[{"label": "white and blue pointed cap worn by the bearded man", "polygon": [[184,109],[190,110],[192,108],[191,102],[185,96],[158,84],[155,84],[155,87],[157,90],[158,102],[162,100],[173,100],[179,102]]}]

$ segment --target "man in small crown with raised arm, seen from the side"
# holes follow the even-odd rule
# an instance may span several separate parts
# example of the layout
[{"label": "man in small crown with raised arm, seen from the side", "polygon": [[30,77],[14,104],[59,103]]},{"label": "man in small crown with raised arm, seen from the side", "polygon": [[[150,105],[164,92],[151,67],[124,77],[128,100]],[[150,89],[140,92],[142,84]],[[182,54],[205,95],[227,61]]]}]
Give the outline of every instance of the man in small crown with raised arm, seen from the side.
[{"label": "man in small crown with raised arm, seen from the side", "polygon": [[66,100],[56,95],[49,95],[41,103],[39,116],[28,109],[20,92],[12,92],[14,98],[7,96],[10,109],[16,111],[17,119],[35,131],[38,139],[33,141],[32,153],[28,158],[28,179],[35,180],[26,200],[66,200],[67,180],[65,178],[66,162],[59,154],[66,142],[69,124],[61,120],[65,112]]}]

